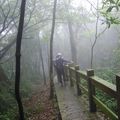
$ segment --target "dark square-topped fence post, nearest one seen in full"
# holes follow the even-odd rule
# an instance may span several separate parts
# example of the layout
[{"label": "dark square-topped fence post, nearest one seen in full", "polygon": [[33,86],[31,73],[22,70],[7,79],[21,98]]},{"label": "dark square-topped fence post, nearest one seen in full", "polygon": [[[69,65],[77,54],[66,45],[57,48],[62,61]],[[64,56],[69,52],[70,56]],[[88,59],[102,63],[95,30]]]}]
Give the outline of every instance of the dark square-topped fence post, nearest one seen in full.
[{"label": "dark square-topped fence post, nearest one seen in full", "polygon": [[87,70],[87,80],[88,80],[88,95],[89,95],[89,110],[90,112],[96,112],[96,104],[93,100],[93,95],[95,95],[95,87],[92,85],[90,77],[94,76],[94,70]]}]

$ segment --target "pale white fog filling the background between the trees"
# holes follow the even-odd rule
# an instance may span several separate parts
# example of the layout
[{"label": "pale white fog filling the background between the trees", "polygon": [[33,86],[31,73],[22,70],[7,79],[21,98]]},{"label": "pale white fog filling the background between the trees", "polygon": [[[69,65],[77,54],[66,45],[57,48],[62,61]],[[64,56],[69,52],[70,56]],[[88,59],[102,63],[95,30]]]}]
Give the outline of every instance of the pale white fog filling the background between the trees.
[{"label": "pale white fog filling the background between the trees", "polygon": [[[20,1],[18,0],[17,8],[20,7],[19,3]],[[15,5],[15,1],[10,3],[10,7],[15,7]],[[42,0],[40,2],[38,0],[27,1],[21,50],[21,69],[24,79],[31,79],[33,81],[34,79],[43,79],[41,54],[45,74],[47,77],[49,76],[52,5],[53,1],[51,0]],[[4,5],[3,7],[5,9],[6,6]],[[101,14],[101,9],[101,0],[98,1],[98,5],[96,0],[58,1],[53,40],[53,59],[55,59],[58,52],[61,52],[64,59],[75,62],[80,65],[81,69],[91,68],[92,46],[96,41],[93,47],[92,68],[114,68],[115,58],[117,57],[114,56],[114,52],[119,47],[119,25],[111,25],[109,27],[106,18]],[[13,16],[14,20],[11,20],[12,22],[9,24],[9,27],[1,32],[1,50],[16,37],[18,18],[15,16],[17,15],[19,15],[19,9],[16,9],[16,13]],[[42,51],[41,54],[40,51]],[[1,59],[1,63],[4,63],[14,54],[15,45]],[[10,64],[11,62],[14,63],[14,58],[10,59]],[[2,65],[6,66],[6,64]],[[13,70],[14,66],[15,64],[13,65]],[[9,61],[7,67],[11,69]],[[29,72],[32,72],[33,78]]]}]

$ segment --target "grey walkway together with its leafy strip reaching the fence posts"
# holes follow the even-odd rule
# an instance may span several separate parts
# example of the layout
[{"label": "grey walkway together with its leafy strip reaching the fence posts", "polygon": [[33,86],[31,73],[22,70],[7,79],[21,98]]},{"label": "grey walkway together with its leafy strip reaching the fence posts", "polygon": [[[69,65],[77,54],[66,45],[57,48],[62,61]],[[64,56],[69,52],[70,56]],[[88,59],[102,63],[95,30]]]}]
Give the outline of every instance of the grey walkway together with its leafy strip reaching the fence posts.
[{"label": "grey walkway together with its leafy strip reaching the fence posts", "polygon": [[78,99],[74,90],[69,85],[61,87],[56,82],[56,79],[54,81],[62,120],[105,120],[105,118],[97,115],[97,113],[89,113],[86,105],[83,105],[84,101],[81,102],[80,97]]}]

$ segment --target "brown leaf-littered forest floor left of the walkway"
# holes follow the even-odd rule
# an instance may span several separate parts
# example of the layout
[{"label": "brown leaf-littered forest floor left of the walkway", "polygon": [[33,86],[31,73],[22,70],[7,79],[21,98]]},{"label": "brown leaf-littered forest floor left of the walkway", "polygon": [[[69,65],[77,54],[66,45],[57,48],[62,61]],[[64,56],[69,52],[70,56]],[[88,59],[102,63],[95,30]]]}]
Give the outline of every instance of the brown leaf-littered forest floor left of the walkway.
[{"label": "brown leaf-littered forest floor left of the walkway", "polygon": [[34,92],[29,100],[24,102],[27,120],[56,120],[57,107],[55,100],[49,99],[49,85],[34,86]]}]

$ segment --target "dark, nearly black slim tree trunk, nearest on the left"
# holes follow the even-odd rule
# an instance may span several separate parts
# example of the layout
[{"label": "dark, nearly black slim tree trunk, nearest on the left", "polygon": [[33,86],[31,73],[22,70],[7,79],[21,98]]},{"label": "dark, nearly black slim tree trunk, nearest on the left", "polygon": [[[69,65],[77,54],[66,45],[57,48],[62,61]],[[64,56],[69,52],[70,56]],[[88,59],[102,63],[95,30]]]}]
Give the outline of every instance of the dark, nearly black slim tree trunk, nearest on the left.
[{"label": "dark, nearly black slim tree trunk, nearest on the left", "polygon": [[19,107],[20,120],[24,120],[24,111],[20,96],[20,63],[21,63],[20,57],[21,57],[21,40],[22,40],[23,25],[24,25],[25,5],[26,5],[26,0],[22,0],[21,8],[20,8],[20,19],[18,26],[17,41],[16,41],[15,97]]}]

